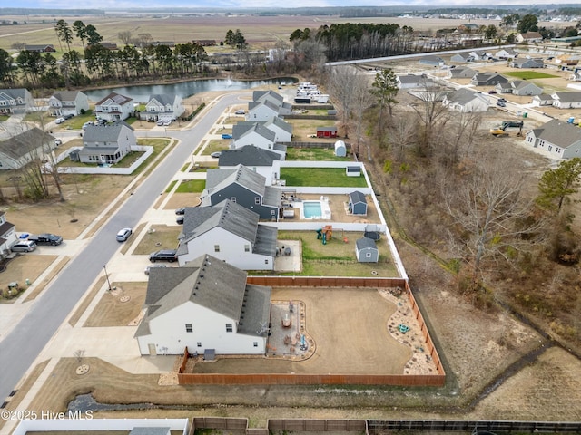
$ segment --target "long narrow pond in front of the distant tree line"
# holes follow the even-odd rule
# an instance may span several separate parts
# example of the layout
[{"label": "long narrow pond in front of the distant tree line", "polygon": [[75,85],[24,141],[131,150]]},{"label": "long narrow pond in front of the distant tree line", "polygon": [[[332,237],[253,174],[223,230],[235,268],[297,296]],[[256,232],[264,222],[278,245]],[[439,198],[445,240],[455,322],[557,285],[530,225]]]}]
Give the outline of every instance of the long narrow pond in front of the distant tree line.
[{"label": "long narrow pond in front of the distant tree line", "polygon": [[135,86],[123,86],[121,88],[103,88],[84,91],[92,102],[98,102],[111,92],[117,92],[127,97],[133,98],[134,102],[148,102],[150,95],[154,93],[169,93],[179,95],[182,99],[191,97],[196,93],[209,91],[240,91],[244,89],[257,88],[266,85],[281,85],[282,82],[297,83],[293,77],[279,77],[270,80],[231,80],[231,79],[203,79],[192,80],[190,82],[169,83],[169,84],[143,84]]}]

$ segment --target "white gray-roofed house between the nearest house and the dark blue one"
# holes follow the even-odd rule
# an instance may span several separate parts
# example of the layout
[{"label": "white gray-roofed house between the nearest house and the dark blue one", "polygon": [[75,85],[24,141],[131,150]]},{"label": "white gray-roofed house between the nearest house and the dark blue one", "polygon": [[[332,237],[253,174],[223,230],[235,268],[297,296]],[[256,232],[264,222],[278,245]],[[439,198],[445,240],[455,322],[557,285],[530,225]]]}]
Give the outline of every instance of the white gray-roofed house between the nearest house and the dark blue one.
[{"label": "white gray-roofed house between the nearest house and the dark blue one", "polygon": [[226,199],[212,207],[188,207],[177,250],[180,266],[203,254],[244,270],[272,270],[275,227],[259,224],[259,214]]}]

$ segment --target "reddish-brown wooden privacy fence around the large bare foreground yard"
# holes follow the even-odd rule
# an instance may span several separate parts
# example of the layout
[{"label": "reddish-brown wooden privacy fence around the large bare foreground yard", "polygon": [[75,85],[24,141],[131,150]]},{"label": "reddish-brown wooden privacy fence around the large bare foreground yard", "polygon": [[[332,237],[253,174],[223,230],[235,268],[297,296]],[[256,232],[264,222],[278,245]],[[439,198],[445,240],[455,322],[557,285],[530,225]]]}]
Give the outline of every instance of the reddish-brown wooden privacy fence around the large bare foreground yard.
[{"label": "reddish-brown wooden privacy fence around the large bare foreground yard", "polygon": [[[397,385],[441,387],[446,382],[446,372],[439,359],[438,351],[429,336],[428,326],[419,311],[408,281],[403,278],[350,277],[350,276],[248,276],[247,283],[271,287],[361,287],[361,288],[400,288],[408,297],[409,306],[419,324],[426,343],[426,353],[436,366],[437,374],[296,374],[296,373],[186,373],[185,367],[189,353],[187,348],[178,370],[178,382],[182,385]],[[332,291],[332,288],[330,289]]]}]

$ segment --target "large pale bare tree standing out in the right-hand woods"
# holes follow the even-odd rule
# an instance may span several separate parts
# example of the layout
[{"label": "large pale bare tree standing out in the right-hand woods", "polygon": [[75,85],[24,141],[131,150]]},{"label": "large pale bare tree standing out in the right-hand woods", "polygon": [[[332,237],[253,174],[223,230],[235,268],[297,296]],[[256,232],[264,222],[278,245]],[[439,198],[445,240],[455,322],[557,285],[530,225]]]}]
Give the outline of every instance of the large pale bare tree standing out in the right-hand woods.
[{"label": "large pale bare tree standing out in the right-hand woods", "polygon": [[441,187],[454,223],[450,234],[472,267],[470,289],[476,291],[483,260],[516,255],[542,223],[528,219],[534,202],[523,195],[527,175],[518,170],[517,160],[490,151],[465,174],[463,180],[447,177]]}]

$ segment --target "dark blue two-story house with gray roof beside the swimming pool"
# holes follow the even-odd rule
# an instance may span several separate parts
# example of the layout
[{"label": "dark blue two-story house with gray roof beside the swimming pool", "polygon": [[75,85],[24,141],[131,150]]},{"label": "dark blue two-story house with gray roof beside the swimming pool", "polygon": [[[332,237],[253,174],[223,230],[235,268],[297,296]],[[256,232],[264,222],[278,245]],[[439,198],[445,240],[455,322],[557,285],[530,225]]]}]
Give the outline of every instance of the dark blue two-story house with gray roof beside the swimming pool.
[{"label": "dark blue two-story house with gray roof beside the swimming pool", "polygon": [[252,169],[208,169],[202,206],[214,206],[231,199],[258,213],[261,219],[278,220],[281,212],[281,189],[266,186],[266,178]]}]

